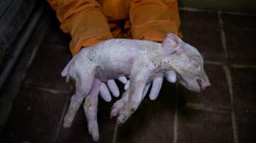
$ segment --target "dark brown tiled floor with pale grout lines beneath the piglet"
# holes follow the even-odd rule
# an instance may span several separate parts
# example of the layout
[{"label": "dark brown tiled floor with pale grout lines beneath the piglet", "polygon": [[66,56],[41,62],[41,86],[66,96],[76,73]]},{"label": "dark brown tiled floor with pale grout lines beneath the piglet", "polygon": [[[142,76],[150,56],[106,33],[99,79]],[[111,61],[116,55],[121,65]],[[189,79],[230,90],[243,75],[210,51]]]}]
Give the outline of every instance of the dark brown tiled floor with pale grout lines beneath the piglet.
[{"label": "dark brown tiled floor with pale grout lines beneath the piglet", "polygon": [[[116,99],[100,99],[100,142],[256,142],[256,16],[183,10],[180,17],[183,39],[203,54],[213,87],[196,94],[165,81],[157,100],[146,98],[122,127],[109,119]],[[73,91],[60,77],[69,40],[51,21],[1,142],[93,142],[82,110],[70,129],[62,127]]]}]

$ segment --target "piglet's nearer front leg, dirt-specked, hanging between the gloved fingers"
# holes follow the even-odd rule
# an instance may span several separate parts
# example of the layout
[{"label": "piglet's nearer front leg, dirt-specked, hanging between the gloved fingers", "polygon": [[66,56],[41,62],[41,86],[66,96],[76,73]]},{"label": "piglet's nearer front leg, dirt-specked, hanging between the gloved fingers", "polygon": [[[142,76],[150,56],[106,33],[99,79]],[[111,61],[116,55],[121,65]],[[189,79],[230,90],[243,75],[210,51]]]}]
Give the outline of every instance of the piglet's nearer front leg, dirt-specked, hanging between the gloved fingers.
[{"label": "piglet's nearer front leg, dirt-specked, hanging between the gloved fingers", "polygon": [[117,117],[117,123],[119,125],[124,124],[124,122],[126,122],[132,113],[134,113],[139,107],[143,99],[143,92],[149,78],[150,71],[154,68],[151,64],[138,64],[139,65],[135,64],[135,68],[132,70],[128,102],[124,108],[120,110],[119,117]]}]

